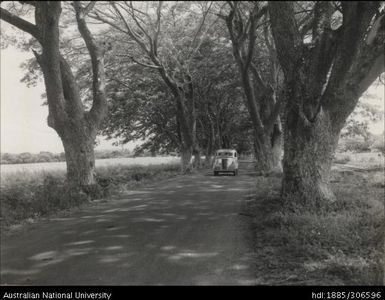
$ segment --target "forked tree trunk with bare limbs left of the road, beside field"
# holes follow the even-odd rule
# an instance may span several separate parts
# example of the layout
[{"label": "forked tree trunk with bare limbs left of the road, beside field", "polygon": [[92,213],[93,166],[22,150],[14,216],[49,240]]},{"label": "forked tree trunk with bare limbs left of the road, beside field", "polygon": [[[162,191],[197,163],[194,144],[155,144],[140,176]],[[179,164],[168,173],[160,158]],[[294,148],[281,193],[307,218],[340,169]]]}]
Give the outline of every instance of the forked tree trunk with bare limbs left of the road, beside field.
[{"label": "forked tree trunk with bare limbs left of the road, beside field", "polygon": [[103,51],[95,43],[84,21],[86,8],[75,2],[79,32],[91,56],[93,70],[93,105],[85,111],[78,85],[68,62],[60,53],[59,20],[61,3],[29,2],[35,7],[35,23],[29,23],[1,8],[1,19],[31,34],[41,45],[41,54],[34,51],[42,69],[48,101],[48,126],[61,138],[67,163],[67,181],[74,189],[89,190],[96,184],[94,142],[96,132],[107,112],[104,85]]}]

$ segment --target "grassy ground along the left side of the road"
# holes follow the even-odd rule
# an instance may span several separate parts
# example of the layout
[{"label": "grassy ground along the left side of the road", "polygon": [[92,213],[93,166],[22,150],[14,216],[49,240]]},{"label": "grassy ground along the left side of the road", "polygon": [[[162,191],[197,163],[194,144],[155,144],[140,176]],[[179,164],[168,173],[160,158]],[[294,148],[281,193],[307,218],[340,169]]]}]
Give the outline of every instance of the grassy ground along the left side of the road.
[{"label": "grassy ground along the left side of the road", "polygon": [[[179,165],[123,166],[97,168],[99,197],[177,176]],[[97,198],[97,197],[93,197]],[[65,172],[16,172],[1,179],[1,226],[33,220],[53,212],[78,207],[89,201],[85,194],[73,193],[65,185]]]}]

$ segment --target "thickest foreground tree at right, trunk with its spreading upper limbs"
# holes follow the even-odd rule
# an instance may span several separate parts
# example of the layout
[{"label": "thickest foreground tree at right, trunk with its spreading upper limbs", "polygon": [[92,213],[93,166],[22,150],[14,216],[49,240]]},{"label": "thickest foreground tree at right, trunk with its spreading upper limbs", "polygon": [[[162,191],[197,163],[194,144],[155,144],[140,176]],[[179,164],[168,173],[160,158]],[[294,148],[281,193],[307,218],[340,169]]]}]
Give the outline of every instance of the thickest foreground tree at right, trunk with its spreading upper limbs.
[{"label": "thickest foreground tree at right, trunk with its spreading upper limbs", "polygon": [[317,207],[335,200],[330,170],[340,131],[362,93],[384,71],[384,23],[371,26],[383,20],[379,3],[342,2],[337,29],[331,26],[334,12],[332,2],[315,3],[308,26],[312,41],[304,43],[293,3],[269,2],[285,75],[282,196],[288,204]]}]

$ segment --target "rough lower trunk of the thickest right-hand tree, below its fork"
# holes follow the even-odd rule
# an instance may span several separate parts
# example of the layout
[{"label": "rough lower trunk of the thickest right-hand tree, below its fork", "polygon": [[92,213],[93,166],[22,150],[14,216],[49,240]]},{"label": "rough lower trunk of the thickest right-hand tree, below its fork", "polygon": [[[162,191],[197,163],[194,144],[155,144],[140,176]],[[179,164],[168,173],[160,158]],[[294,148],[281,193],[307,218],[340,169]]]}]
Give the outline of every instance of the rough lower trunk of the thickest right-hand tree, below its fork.
[{"label": "rough lower trunk of the thickest right-hand tree, below its fork", "polygon": [[340,130],[322,109],[312,122],[291,110],[285,125],[283,199],[313,208],[334,201],[330,171]]}]

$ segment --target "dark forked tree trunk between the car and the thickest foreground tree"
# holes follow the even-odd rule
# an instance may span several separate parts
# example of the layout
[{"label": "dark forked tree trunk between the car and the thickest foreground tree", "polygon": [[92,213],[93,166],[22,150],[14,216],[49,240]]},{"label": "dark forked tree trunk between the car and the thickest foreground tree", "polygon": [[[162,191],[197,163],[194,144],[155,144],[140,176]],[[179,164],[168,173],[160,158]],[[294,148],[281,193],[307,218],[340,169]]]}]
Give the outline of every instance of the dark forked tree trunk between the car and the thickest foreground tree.
[{"label": "dark forked tree trunk between the car and the thickest foreground tree", "polygon": [[230,13],[224,17],[233,45],[233,55],[240,72],[246,106],[254,128],[254,154],[259,173],[269,173],[280,168],[281,122],[280,102],[275,91],[262,80],[252,63],[256,41],[256,25],[266,13],[266,7],[255,3],[244,20],[239,2],[229,2]]}]

